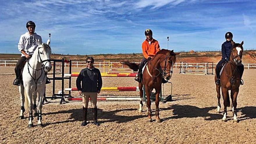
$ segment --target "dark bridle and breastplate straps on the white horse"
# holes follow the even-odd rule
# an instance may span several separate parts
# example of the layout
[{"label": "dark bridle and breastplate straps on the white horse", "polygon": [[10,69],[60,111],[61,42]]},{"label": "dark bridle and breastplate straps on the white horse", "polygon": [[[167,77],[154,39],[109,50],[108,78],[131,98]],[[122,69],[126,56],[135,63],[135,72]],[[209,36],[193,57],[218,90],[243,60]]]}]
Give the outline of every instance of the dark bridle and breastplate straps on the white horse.
[{"label": "dark bridle and breastplate straps on the white horse", "polygon": [[[27,63],[28,63],[28,71],[29,71],[29,67],[31,67],[31,68],[35,71],[35,74],[34,74],[34,75],[36,75],[36,71],[41,70],[41,74],[40,74],[40,76],[38,77],[38,79],[40,79],[40,77],[42,76],[43,70],[45,71],[45,65],[44,65],[43,63],[46,62],[46,61],[49,61],[49,62],[51,63],[51,60],[50,60],[50,59],[46,59],[46,60],[43,60],[43,61],[42,61],[42,58],[41,58],[41,56],[40,56],[40,51],[39,51],[40,48],[42,48],[42,47],[38,47],[38,57],[40,58],[40,63],[42,64],[42,67],[41,67],[40,69],[34,69],[33,67],[31,67],[31,65],[29,64],[29,60],[27,60]],[[49,47],[49,49],[51,49],[51,48]],[[38,57],[37,57],[37,61],[39,62]],[[42,82],[45,80],[45,77],[44,77],[44,79],[43,79],[41,82],[37,82],[38,79],[35,79],[35,78],[32,76],[32,74],[30,73],[30,71],[29,71],[29,75],[30,75],[30,76],[32,77],[32,79],[35,81],[35,90],[37,89],[37,83],[42,83]],[[45,75],[46,75],[46,73],[45,73]]]}]

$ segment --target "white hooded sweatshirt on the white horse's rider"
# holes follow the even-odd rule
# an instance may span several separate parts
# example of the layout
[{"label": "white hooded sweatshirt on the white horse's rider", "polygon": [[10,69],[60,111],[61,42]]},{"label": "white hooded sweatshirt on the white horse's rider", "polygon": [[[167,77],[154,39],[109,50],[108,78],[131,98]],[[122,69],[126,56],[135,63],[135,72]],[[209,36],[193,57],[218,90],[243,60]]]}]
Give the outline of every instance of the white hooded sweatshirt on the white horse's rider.
[{"label": "white hooded sweatshirt on the white horse's rider", "polygon": [[[21,35],[18,43],[19,51],[21,52],[21,50],[24,50],[26,54],[33,54],[38,46],[35,40],[39,40],[39,42],[42,43],[41,36],[37,35],[36,33],[30,35],[29,32],[26,32],[25,34]],[[21,56],[25,55],[21,54]]]}]

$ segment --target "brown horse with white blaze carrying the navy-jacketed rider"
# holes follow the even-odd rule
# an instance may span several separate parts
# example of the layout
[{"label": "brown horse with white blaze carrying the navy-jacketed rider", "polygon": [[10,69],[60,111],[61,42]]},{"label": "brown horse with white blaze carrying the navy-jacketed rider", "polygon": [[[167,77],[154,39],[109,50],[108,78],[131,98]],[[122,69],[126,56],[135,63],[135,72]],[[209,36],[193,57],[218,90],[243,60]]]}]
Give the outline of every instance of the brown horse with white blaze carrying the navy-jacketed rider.
[{"label": "brown horse with white blaze carrying the navy-jacketed rider", "polygon": [[[221,103],[220,103],[220,89],[222,91],[222,96],[224,99],[224,114],[222,121],[227,121],[227,106],[230,106],[230,99],[228,90],[231,90],[231,100],[232,100],[232,112],[234,116],[234,122],[238,122],[237,120],[237,95],[239,92],[240,80],[241,77],[239,75],[239,71],[237,69],[237,65],[242,62],[242,54],[243,54],[243,41],[241,44],[232,42],[232,50],[230,52],[229,61],[223,67],[223,71],[221,74],[221,83],[216,84],[217,98],[218,98],[218,106],[217,113],[220,113]],[[215,81],[216,81],[215,75]]]}]

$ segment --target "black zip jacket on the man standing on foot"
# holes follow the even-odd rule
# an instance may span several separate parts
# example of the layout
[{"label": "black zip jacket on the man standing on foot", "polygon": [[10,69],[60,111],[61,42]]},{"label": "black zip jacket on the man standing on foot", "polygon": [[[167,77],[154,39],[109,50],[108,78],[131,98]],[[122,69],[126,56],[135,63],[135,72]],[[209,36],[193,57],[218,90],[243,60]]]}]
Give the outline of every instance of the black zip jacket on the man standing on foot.
[{"label": "black zip jacket on the man standing on foot", "polygon": [[[82,81],[82,87],[81,87]],[[102,78],[99,69],[85,68],[81,70],[77,77],[77,90],[82,92],[97,92],[102,87]]]}]

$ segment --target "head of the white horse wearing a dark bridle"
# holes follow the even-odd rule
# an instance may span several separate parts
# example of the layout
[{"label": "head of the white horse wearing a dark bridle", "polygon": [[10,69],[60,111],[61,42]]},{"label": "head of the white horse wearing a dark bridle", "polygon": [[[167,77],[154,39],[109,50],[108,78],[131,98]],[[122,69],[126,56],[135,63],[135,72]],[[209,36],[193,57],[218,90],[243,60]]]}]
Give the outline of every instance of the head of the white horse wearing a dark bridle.
[{"label": "head of the white horse wearing a dark bridle", "polygon": [[47,43],[38,44],[38,62],[42,63],[46,72],[51,70],[51,48],[49,44],[50,40],[47,40]]}]

